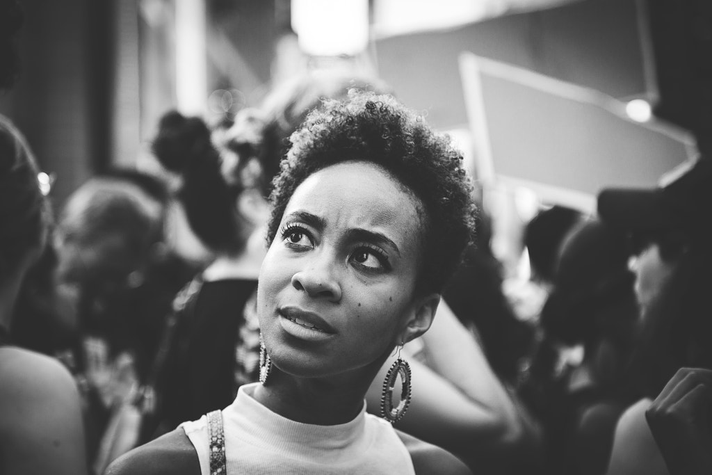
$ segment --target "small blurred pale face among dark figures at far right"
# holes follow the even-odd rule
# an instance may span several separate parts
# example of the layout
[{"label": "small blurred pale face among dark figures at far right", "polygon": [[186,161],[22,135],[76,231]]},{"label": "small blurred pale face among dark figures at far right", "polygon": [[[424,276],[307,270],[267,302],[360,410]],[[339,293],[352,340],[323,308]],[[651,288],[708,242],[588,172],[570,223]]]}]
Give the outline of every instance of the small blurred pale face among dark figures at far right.
[{"label": "small blurred pale face among dark figures at far right", "polygon": [[676,268],[676,261],[665,261],[660,246],[651,241],[632,256],[628,267],[635,273],[635,293],[640,312],[645,315],[651,301],[661,294]]}]

